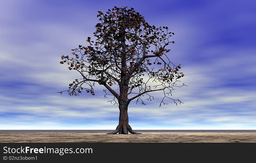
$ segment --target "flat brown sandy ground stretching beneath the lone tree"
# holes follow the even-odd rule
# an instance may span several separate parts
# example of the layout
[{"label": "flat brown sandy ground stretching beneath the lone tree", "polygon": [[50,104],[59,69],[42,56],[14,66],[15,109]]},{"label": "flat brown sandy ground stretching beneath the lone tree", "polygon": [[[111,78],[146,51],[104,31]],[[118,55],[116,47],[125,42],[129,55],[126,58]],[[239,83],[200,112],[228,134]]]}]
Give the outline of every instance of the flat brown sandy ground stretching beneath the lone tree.
[{"label": "flat brown sandy ground stretching beneath the lone tree", "polygon": [[142,134],[106,135],[110,130],[0,130],[0,142],[255,142],[256,130],[137,130]]}]

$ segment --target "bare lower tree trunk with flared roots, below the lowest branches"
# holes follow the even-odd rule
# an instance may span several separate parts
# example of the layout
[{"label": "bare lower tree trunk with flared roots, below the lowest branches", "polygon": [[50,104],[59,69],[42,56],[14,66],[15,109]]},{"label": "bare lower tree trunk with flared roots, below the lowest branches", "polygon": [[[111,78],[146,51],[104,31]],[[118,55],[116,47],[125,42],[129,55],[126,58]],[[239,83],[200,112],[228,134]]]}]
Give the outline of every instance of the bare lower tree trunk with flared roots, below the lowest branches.
[{"label": "bare lower tree trunk with flared roots, below the lowest branches", "polygon": [[135,132],[131,129],[131,126],[129,125],[129,119],[128,119],[128,106],[127,105],[119,105],[119,124],[116,127],[116,130],[107,134],[128,134],[128,131],[131,134],[141,134],[138,132]]}]

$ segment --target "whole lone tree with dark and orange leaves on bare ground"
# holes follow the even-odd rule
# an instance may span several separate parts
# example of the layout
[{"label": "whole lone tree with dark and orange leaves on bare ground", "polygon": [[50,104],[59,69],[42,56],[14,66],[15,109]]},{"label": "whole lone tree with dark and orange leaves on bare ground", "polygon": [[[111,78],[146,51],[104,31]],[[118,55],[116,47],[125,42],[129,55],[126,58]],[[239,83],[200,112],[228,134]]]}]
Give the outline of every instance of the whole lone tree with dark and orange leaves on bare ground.
[{"label": "whole lone tree with dark and orange leaves on bare ground", "polygon": [[[128,131],[139,134],[132,130],[128,122],[127,110],[132,100],[145,105],[144,97],[152,101],[151,92],[162,91],[163,99],[159,107],[167,104],[165,98],[173,100],[176,105],[182,103],[170,97],[174,87],[185,85],[177,85],[184,76],[179,72],[181,65],[174,65],[167,56],[170,52],[167,46],[175,43],[170,41],[174,33],[169,32],[167,26],[150,26],[134,8],[114,7],[105,14],[98,13],[100,22],[93,33],[97,39],[92,41],[88,37],[88,46],[79,45],[77,49],[72,49],[74,57],[61,57],[60,63],[78,71],[82,78],[70,83],[68,90],[58,93],[68,92],[70,96],[77,96],[88,92],[95,95],[95,84],[104,85],[104,97],[112,95],[113,100],[109,102],[118,104],[120,110],[119,124],[115,131],[108,134],[128,134]],[[117,88],[114,89],[113,85]]]}]

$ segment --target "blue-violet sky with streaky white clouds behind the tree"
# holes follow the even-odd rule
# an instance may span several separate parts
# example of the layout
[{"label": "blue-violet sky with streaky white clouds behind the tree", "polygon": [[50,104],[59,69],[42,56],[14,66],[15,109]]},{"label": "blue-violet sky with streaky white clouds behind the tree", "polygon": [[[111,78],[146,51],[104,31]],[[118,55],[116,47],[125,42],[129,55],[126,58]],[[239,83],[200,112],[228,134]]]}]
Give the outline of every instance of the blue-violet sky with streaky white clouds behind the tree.
[{"label": "blue-violet sky with streaky white clouds behind the tree", "polygon": [[99,22],[97,11],[133,7],[150,25],[175,35],[170,60],[182,65],[173,98],[160,94],[145,106],[131,103],[134,130],[256,129],[256,1],[0,1],[0,129],[114,130],[119,109],[104,98],[60,92],[79,78],[61,65],[86,45]]}]

